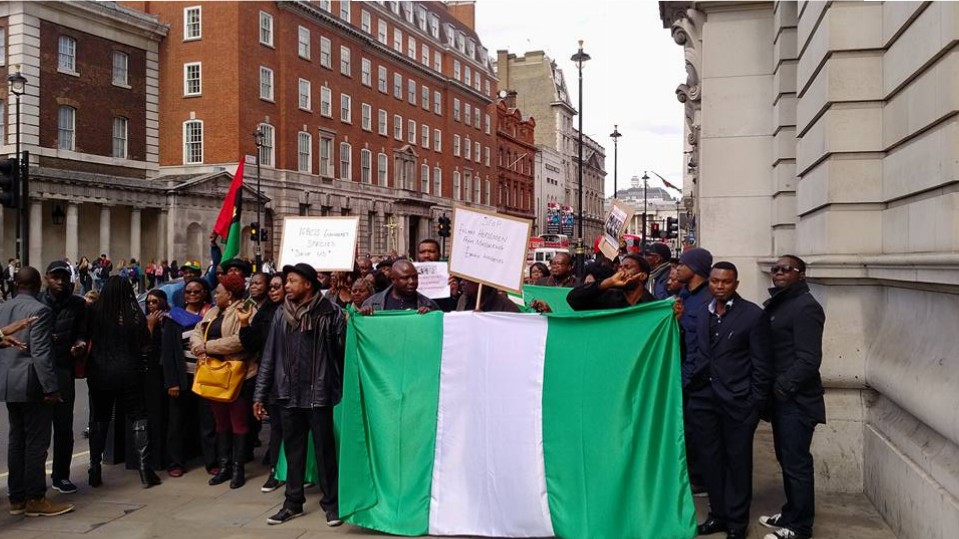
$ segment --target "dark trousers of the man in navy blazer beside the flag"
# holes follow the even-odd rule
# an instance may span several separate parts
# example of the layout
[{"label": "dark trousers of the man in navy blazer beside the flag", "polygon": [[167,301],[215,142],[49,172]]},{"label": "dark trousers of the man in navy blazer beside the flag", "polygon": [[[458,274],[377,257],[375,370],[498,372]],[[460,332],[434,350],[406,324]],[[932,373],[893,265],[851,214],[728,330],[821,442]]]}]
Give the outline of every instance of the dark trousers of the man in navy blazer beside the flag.
[{"label": "dark trousers of the man in navy blazer beside the flag", "polygon": [[753,493],[753,435],[759,424],[754,410],[743,421],[720,407],[711,386],[692,393],[687,415],[700,472],[709,493],[710,514],[730,531],[745,532]]}]

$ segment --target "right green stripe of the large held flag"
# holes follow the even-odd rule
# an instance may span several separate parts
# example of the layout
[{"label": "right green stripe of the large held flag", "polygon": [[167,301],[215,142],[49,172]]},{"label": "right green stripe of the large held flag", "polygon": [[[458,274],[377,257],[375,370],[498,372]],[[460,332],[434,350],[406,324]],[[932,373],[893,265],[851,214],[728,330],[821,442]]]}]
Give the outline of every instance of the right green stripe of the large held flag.
[{"label": "right green stripe of the large held flag", "polygon": [[672,301],[549,322],[543,451],[556,536],[695,536]]}]

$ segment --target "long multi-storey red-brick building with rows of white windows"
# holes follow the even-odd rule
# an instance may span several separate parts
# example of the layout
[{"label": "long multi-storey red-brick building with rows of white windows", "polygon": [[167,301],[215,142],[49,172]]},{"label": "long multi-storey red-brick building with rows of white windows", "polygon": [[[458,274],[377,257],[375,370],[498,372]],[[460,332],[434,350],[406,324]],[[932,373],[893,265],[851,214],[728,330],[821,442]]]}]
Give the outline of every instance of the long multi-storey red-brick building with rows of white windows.
[{"label": "long multi-storey red-brick building with rows of white windows", "polygon": [[[496,79],[473,2],[123,4],[170,27],[159,51],[163,174],[232,171],[264,134],[265,258],[284,215],[359,216],[361,253],[385,254],[434,236],[454,203],[495,205]],[[246,166],[248,186],[256,175]],[[208,231],[215,213],[186,226]],[[181,232],[175,245],[196,243]]]}]

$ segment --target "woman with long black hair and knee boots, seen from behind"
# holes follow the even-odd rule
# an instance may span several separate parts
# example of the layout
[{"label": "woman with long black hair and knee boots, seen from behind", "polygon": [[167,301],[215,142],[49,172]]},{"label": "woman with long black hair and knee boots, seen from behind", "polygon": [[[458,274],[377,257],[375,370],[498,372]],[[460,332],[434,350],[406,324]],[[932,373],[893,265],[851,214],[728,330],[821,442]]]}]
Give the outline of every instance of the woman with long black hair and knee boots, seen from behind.
[{"label": "woman with long black hair and knee boots, seen from behind", "polygon": [[110,277],[90,316],[92,347],[87,362],[90,387],[90,486],[103,484],[101,462],[107,429],[118,400],[133,421],[133,445],[144,488],[160,484],[150,467],[150,433],[143,398],[143,373],[150,351],[146,315],[140,310],[130,281]]}]

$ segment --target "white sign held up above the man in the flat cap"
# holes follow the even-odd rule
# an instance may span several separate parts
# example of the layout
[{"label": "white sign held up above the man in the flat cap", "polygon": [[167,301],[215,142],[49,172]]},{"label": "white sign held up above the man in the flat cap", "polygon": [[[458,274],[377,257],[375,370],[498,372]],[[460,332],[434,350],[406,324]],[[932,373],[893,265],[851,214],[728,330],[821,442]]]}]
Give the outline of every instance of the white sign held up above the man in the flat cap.
[{"label": "white sign held up above the man in the flat cap", "polygon": [[284,217],[280,267],[305,262],[317,271],[352,271],[359,217]]}]

